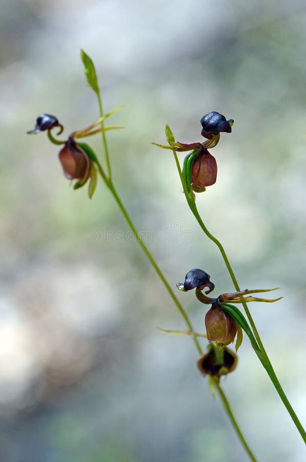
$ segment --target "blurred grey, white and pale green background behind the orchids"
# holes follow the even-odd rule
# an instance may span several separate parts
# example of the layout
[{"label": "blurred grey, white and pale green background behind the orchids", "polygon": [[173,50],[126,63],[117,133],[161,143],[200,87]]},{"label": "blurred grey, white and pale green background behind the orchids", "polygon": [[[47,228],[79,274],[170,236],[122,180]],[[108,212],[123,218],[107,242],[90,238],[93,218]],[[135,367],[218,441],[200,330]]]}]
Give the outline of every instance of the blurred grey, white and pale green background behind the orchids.
[{"label": "blurred grey, white and pale green background behind the orchids", "polygon": [[[191,339],[156,330],[185,325],[109,192],[74,191],[45,134],[25,134],[42,112],[67,134],[97,118],[80,48],[105,109],[125,106],[112,122],[126,129],[108,135],[114,181],[173,287],[200,267],[218,293],[233,290],[171,152],[150,142],[165,141],[166,123],[200,140],[212,110],[235,120],[197,204],[241,287],[282,287],[280,302],[251,309],[305,424],[304,1],[4,0],[0,25],[0,459],[248,460]],[[90,141],[102,155],[100,137]],[[205,306],[177,296],[203,331]],[[223,386],[258,460],[305,460],[246,339]]]}]

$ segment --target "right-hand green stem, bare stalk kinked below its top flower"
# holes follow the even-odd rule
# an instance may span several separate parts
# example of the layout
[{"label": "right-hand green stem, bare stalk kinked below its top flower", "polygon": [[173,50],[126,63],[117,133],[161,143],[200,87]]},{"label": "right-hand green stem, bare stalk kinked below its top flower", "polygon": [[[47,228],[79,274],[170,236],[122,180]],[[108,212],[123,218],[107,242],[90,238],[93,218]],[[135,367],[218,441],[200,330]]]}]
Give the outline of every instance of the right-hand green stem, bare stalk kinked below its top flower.
[{"label": "right-hand green stem, bare stalk kinked below its top flower", "polygon": [[[232,269],[232,266],[229,262],[229,259],[228,259],[228,256],[225,252],[225,249],[223,248],[222,244],[218,241],[218,239],[216,239],[210,232],[209,230],[207,229],[207,227],[205,226],[205,224],[203,223],[203,220],[201,219],[200,217],[200,214],[198,213],[198,209],[196,207],[196,204],[195,204],[195,201],[188,195],[188,188],[187,188],[187,184],[186,184],[186,181],[185,179],[183,178],[182,176],[182,172],[181,172],[181,168],[180,168],[180,165],[179,165],[179,161],[178,161],[178,158],[177,158],[177,154],[176,154],[176,151],[173,150],[173,155],[174,155],[174,158],[175,158],[175,163],[176,163],[176,166],[177,166],[177,169],[178,169],[178,172],[179,172],[179,177],[180,177],[180,180],[181,180],[181,183],[182,183],[182,186],[183,186],[183,190],[185,192],[185,196],[186,196],[186,199],[187,199],[187,202],[188,202],[188,205],[189,205],[189,208],[191,209],[195,219],[197,220],[197,222],[199,223],[200,227],[202,228],[203,232],[207,235],[207,237],[209,239],[211,239],[216,245],[217,247],[219,248],[219,251],[222,255],[222,258],[223,260],[225,261],[225,264],[228,268],[228,272],[231,276],[231,279],[233,281],[233,284],[234,284],[234,287],[236,289],[237,292],[240,292],[240,287],[238,285],[238,282],[237,282],[237,279],[235,277],[235,274],[233,272],[233,269]],[[277,393],[279,394],[279,397],[280,399],[282,400],[285,408],[287,409],[287,411],[289,412],[292,420],[294,421],[294,424],[296,426],[296,428],[298,429],[301,437],[303,438],[304,442],[306,443],[306,432],[305,430],[303,429],[303,426],[301,425],[301,422],[299,421],[296,413],[294,412],[287,396],[285,395],[280,383],[279,383],[279,380],[275,374],[275,371],[272,367],[272,364],[271,364],[271,361],[268,357],[268,354],[266,352],[266,350],[264,349],[263,347],[263,344],[262,344],[262,341],[260,339],[260,336],[258,334],[258,331],[256,329],[256,325],[253,321],[253,318],[252,318],[252,315],[249,311],[249,308],[248,308],[248,305],[246,303],[246,301],[243,299],[243,297],[240,297],[240,300],[241,300],[241,303],[243,305],[243,308],[244,308],[244,311],[246,312],[247,314],[247,317],[249,319],[249,322],[251,324],[251,327],[252,327],[252,330],[254,332],[254,336],[257,340],[257,343],[259,345],[259,348],[260,348],[260,351],[261,351],[261,354],[262,356],[258,355],[258,358],[260,359],[264,369],[266,369],[272,383],[274,384],[274,387],[276,388],[277,390]]]}]

